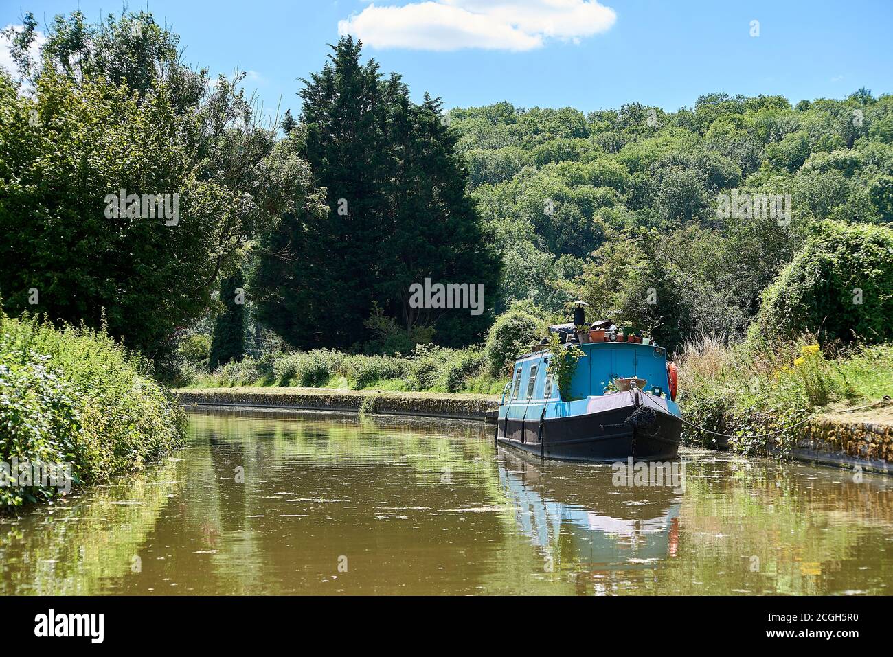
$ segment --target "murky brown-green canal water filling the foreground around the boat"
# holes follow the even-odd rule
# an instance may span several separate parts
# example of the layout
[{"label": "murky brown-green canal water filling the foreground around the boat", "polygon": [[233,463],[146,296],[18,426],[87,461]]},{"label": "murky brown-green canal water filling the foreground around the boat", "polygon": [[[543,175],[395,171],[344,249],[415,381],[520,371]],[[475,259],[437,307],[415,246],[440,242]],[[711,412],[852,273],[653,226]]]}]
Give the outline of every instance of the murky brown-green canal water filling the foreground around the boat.
[{"label": "murky brown-green canal water filling the foreground around the boat", "polygon": [[893,593],[893,478],[684,450],[683,486],[617,486],[492,429],[193,414],[151,470],[0,519],[0,594]]}]

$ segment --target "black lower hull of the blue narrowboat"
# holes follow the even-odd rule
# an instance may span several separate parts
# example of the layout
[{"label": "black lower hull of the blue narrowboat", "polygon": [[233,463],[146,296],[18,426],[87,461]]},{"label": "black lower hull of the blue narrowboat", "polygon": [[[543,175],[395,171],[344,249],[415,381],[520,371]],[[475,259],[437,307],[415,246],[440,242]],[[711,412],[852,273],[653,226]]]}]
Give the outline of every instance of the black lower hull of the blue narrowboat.
[{"label": "black lower hull of the blue narrowboat", "polygon": [[[616,462],[672,461],[679,455],[682,420],[651,408],[633,419],[635,403],[566,418],[499,420],[497,442],[550,459]],[[642,420],[650,420],[647,425]],[[638,420],[638,421],[630,421]]]}]

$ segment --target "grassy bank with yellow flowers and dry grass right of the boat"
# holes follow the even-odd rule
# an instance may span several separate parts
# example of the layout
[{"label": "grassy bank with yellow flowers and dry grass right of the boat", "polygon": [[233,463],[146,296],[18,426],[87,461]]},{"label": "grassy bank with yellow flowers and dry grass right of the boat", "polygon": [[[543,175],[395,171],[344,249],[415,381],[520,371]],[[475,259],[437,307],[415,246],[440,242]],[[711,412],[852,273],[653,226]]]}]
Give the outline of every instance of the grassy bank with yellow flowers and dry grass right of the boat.
[{"label": "grassy bank with yellow flowers and dry grass right of the boat", "polygon": [[[841,412],[847,408],[893,395],[893,345],[854,346],[835,353],[822,352],[810,338],[776,345],[725,345],[705,337],[687,345],[679,365],[686,420],[734,436],[728,445],[740,453],[766,447],[789,452],[801,433],[782,429],[814,413],[845,417]],[[777,436],[755,437],[777,431]],[[689,445],[716,447],[723,442],[688,426],[683,437]]]}]

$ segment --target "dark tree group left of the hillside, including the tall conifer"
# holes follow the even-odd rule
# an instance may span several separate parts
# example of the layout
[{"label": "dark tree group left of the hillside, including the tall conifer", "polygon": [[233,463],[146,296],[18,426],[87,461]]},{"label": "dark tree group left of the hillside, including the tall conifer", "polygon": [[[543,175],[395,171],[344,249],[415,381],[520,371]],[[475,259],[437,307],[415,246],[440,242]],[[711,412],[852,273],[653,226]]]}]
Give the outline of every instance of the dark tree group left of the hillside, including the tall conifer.
[{"label": "dark tree group left of the hillside, including the tall conifer", "polygon": [[[254,254],[248,303],[291,345],[408,351],[488,328],[499,259],[456,133],[438,99],[414,104],[399,76],[361,62],[361,44],[333,46],[280,133],[240,78],[181,62],[178,37],[147,12],[58,16],[39,61],[36,30],[28,15],[11,34],[21,79],[0,77],[11,311],[106,321],[165,356],[209,309],[232,314],[213,291]],[[177,216],[155,212],[155,196],[175,199]],[[483,285],[484,312],[413,307],[410,286],[425,279]],[[230,351],[215,348],[213,363],[238,360]]]}]

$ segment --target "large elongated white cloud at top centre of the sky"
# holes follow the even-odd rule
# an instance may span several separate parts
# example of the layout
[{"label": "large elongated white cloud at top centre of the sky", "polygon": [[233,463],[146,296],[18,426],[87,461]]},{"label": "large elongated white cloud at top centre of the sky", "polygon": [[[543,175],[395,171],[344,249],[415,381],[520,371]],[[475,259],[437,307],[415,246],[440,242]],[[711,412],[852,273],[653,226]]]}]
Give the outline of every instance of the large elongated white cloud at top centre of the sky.
[{"label": "large elongated white cloud at top centre of the sky", "polygon": [[373,48],[532,50],[547,38],[578,42],[613,26],[617,15],[597,0],[429,0],[370,4],[338,21],[338,34]]}]

